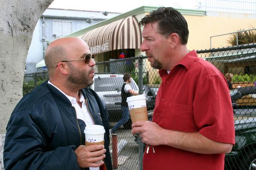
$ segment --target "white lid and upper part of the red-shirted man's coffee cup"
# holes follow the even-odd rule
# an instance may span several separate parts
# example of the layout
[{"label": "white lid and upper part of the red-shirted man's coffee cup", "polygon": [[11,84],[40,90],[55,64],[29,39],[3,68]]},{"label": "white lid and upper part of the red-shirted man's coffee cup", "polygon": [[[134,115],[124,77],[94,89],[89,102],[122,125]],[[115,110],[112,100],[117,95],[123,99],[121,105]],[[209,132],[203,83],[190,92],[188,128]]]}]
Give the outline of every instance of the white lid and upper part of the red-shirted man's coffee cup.
[{"label": "white lid and upper part of the red-shirted man's coffee cup", "polygon": [[127,97],[126,102],[128,103],[129,109],[146,107],[146,97],[144,94]]}]

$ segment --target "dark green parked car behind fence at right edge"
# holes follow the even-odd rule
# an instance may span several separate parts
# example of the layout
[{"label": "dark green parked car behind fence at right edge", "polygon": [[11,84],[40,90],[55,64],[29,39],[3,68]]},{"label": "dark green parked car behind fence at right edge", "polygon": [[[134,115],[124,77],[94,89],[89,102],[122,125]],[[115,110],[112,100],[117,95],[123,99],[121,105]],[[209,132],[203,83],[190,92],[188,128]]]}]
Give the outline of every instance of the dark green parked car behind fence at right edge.
[{"label": "dark green parked car behind fence at right edge", "polygon": [[[255,170],[256,167],[256,86],[230,91],[233,105],[236,144],[225,156],[225,170]],[[237,102],[243,96],[244,102]],[[255,100],[256,101],[256,100]]]}]

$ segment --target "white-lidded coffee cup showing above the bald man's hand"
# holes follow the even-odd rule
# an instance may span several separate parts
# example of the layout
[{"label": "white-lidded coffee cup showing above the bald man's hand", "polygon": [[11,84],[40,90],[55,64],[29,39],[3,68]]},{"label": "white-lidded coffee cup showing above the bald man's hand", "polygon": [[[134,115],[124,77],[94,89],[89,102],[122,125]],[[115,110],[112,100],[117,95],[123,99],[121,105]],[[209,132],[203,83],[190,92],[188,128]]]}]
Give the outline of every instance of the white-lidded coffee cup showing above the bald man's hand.
[{"label": "white-lidded coffee cup showing above the bald man's hand", "polygon": [[84,129],[85,145],[104,144],[105,129],[101,125],[89,125]]}]

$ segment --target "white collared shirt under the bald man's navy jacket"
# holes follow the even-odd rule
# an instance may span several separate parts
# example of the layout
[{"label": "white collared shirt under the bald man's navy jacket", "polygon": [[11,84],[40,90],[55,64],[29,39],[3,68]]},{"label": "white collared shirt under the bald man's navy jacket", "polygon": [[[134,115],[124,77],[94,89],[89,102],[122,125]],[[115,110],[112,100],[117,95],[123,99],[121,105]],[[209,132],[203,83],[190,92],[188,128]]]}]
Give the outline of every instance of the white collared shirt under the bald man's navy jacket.
[{"label": "white collared shirt under the bald man's navy jacket", "polygon": [[[48,81],[48,83],[50,85],[52,85],[53,87],[55,87],[56,89],[58,89],[58,91],[60,91],[62,94],[64,94],[67,97],[67,99],[69,99],[69,101],[71,102],[72,106],[76,110],[77,119],[83,120],[85,125],[87,125],[87,126],[88,125],[95,125],[94,122],[93,122],[92,117],[90,116],[90,113],[87,111],[84,95],[80,91],[79,91],[79,95],[80,95],[79,102],[82,103],[82,108],[80,108],[79,104],[76,102],[76,98],[74,98],[72,96],[68,96],[63,91],[61,91],[61,89],[59,89],[55,85],[53,85],[50,81]],[[90,167],[90,170],[99,170],[99,167]]]}]

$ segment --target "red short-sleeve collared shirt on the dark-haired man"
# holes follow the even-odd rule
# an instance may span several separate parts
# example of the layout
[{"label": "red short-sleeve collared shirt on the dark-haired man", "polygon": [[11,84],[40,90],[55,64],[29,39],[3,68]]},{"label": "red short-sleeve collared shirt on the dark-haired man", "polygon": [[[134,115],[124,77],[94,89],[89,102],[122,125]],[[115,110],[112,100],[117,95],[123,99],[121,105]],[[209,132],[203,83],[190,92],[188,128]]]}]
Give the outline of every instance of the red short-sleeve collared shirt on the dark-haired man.
[{"label": "red short-sleeve collared shirt on the dark-haired man", "polygon": [[[235,144],[234,117],[227,81],[211,63],[190,51],[168,74],[159,71],[153,122],[182,132],[199,132],[222,143]],[[200,154],[154,146],[144,153],[143,170],[223,170],[225,154]]]}]

